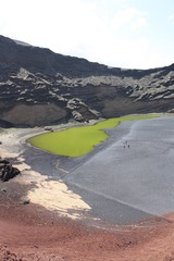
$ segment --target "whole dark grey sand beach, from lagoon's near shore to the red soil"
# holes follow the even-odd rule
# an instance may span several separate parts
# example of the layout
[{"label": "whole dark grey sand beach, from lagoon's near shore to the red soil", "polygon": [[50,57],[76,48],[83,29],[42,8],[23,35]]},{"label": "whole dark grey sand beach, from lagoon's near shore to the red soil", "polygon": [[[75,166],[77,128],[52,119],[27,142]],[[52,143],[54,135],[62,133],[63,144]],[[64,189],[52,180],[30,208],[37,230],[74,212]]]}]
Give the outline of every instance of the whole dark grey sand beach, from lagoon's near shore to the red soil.
[{"label": "whole dark grey sand beach, from lagoon's near shore to the red soil", "polygon": [[107,141],[78,159],[25,145],[30,132],[40,130],[12,132],[3,146],[11,152],[15,146],[33,171],[63,179],[90,206],[92,216],[133,224],[174,211],[174,117],[122,123],[108,130]]}]

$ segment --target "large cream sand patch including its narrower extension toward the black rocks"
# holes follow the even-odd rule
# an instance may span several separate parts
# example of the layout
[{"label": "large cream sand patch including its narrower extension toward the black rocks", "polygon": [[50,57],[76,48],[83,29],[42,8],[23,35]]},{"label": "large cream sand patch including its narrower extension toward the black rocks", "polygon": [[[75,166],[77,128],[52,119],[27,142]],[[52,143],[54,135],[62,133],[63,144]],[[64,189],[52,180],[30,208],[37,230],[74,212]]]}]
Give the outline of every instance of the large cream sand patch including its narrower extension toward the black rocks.
[{"label": "large cream sand patch including its narrower extension toward the black rocks", "polygon": [[34,184],[36,186],[27,194],[30,202],[40,204],[51,211],[58,211],[61,216],[73,220],[82,219],[83,211],[86,212],[91,209],[83,201],[80,196],[69,190],[63,182],[48,181],[48,176],[30,170],[23,162],[15,166],[22,172],[22,175],[15,177],[15,182],[23,185]]}]

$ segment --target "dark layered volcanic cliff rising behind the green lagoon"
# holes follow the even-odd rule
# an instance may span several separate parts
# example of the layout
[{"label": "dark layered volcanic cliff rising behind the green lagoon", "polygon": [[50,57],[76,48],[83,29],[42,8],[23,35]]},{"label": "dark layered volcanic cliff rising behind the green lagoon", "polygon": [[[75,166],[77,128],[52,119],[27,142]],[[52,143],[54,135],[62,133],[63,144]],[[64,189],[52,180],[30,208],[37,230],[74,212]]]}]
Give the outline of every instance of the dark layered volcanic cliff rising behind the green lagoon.
[{"label": "dark layered volcanic cliff rising behind the green lagoon", "polygon": [[0,123],[45,125],[174,108],[174,64],[110,69],[0,36]]}]

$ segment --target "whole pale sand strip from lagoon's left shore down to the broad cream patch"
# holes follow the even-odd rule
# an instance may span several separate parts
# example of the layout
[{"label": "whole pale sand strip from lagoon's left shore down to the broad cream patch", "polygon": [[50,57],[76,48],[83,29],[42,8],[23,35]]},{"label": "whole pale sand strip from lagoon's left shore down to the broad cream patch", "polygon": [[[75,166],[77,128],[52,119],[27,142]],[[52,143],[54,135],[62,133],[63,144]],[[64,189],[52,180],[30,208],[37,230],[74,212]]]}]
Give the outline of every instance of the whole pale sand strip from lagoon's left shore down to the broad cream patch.
[{"label": "whole pale sand strip from lagoon's left shore down to the broad cream patch", "polygon": [[[61,128],[59,126],[59,128]],[[17,175],[14,181],[23,185],[34,184],[36,187],[28,191],[28,199],[33,203],[40,204],[48,210],[58,211],[62,216],[71,219],[83,217],[83,211],[89,211],[90,207],[83,201],[80,196],[69,190],[66,185],[62,182],[48,181],[48,176],[41,175],[30,169],[25,163],[25,159],[21,158],[23,144],[28,136],[36,134],[36,132],[44,132],[41,129],[2,129],[0,132],[0,157],[15,158],[17,167],[22,175]]]}]

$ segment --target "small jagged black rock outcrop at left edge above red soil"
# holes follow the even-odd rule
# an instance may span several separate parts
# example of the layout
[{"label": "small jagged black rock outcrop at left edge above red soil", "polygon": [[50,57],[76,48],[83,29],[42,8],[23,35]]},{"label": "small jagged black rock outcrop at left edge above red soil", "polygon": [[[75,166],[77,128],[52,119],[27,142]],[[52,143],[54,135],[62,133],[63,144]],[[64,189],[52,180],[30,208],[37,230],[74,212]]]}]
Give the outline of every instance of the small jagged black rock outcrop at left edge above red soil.
[{"label": "small jagged black rock outcrop at left edge above red soil", "polygon": [[18,174],[18,169],[12,166],[12,164],[8,160],[0,159],[0,179],[2,182],[8,182],[9,179],[15,177]]}]

